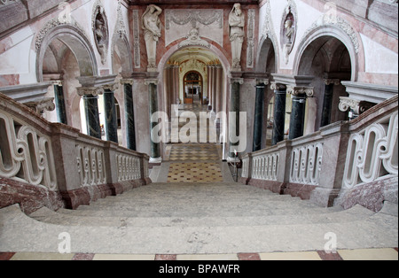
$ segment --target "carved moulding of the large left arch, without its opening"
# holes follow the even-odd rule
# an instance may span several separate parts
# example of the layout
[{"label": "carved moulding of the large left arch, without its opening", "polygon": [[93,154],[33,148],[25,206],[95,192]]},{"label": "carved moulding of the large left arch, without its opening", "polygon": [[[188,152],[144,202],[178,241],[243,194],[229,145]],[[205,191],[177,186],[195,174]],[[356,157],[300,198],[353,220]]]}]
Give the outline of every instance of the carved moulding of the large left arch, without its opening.
[{"label": "carved moulding of the large left arch, without its opening", "polygon": [[61,24],[59,21],[51,21],[36,38],[36,78],[43,81],[43,59],[51,42],[58,39],[74,53],[79,64],[81,76],[98,75],[98,65],[94,50],[84,32],[76,26]]}]

